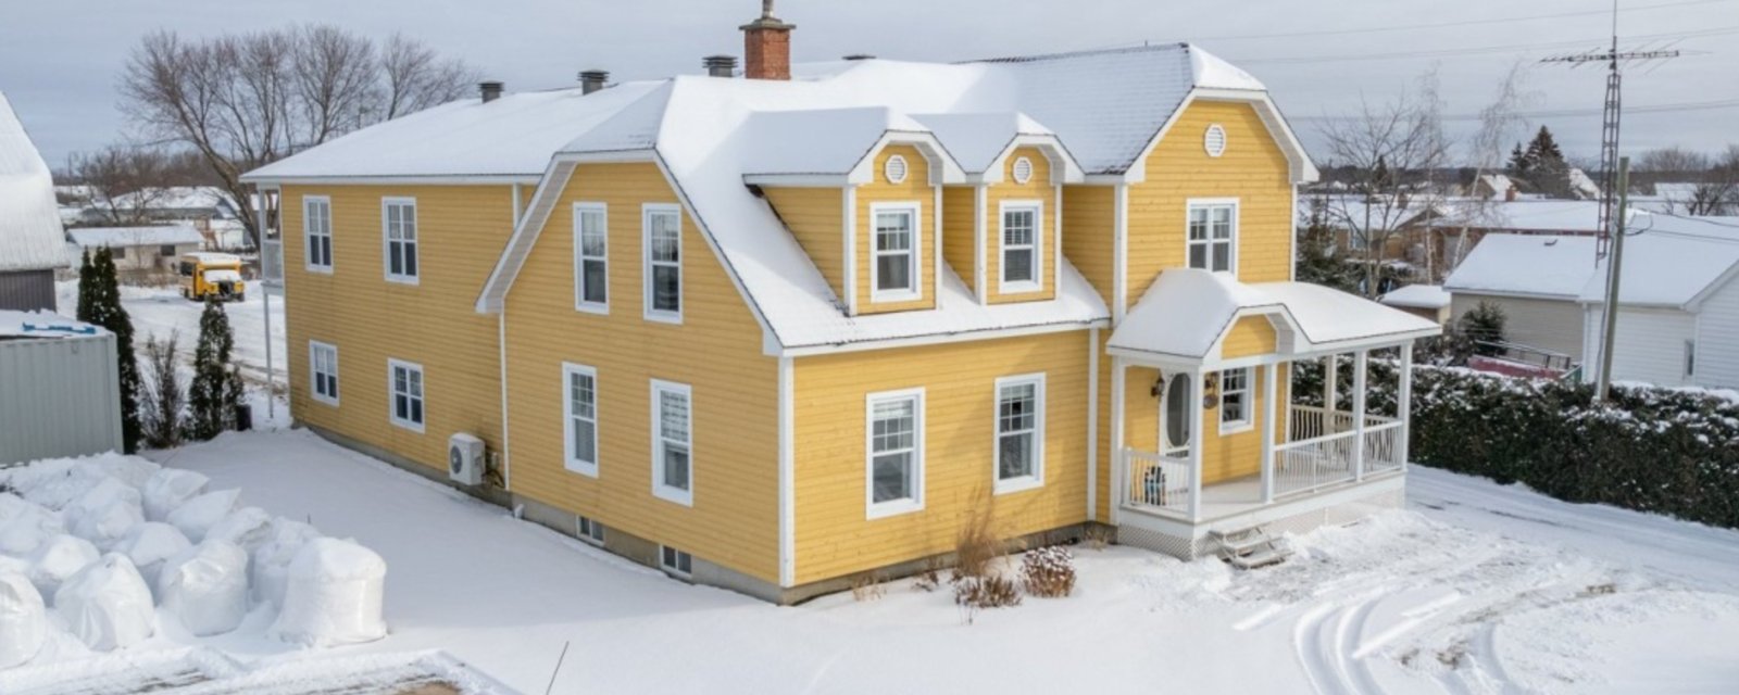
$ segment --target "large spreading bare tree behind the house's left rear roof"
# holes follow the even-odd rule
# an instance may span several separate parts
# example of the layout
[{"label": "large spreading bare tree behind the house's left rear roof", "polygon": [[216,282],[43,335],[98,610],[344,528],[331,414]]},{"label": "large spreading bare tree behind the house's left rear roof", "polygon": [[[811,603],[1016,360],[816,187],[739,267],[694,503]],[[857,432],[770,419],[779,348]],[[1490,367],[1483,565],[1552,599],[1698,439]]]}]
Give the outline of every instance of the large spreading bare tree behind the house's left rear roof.
[{"label": "large spreading bare tree behind the house's left rear roof", "polygon": [[122,73],[122,109],[205,162],[259,243],[242,174],[332,137],[457,97],[473,71],[403,36],[384,49],[334,26],[183,40],[144,36]]}]

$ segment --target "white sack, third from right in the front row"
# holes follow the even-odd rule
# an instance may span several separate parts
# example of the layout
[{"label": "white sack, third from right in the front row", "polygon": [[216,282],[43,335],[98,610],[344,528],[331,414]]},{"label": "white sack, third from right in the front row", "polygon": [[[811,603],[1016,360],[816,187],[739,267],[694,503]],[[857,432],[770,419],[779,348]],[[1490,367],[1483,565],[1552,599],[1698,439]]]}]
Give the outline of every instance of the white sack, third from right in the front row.
[{"label": "white sack, third from right in the front row", "polygon": [[157,632],[151,589],[123,554],[90,563],[54,592],[54,610],[85,646],[118,650]]}]

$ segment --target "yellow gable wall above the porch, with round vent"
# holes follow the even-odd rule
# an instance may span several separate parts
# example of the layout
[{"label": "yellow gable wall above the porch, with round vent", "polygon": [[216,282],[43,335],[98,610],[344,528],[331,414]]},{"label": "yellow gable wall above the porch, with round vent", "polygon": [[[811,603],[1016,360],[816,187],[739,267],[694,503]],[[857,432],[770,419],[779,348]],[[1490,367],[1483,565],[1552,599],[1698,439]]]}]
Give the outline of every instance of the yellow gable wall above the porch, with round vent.
[{"label": "yellow gable wall above the porch, with round vent", "polygon": [[[1212,123],[1226,129],[1226,151],[1217,158],[1202,148]],[[1238,280],[1290,280],[1292,182],[1285,153],[1252,106],[1196,101],[1148,155],[1146,181],[1130,186],[1130,304],[1160,271],[1188,264],[1189,198],[1238,198]]]}]

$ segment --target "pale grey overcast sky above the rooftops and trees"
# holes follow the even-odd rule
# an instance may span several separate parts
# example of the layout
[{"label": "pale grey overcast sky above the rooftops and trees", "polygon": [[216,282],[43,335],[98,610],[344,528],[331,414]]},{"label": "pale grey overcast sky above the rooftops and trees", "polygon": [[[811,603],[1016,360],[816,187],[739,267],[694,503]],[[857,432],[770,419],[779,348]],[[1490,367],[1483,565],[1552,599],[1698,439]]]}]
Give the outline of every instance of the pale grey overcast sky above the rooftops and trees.
[{"label": "pale grey overcast sky above the rooftops and trees", "polygon": [[[115,80],[139,36],[320,21],[403,31],[476,64],[508,90],[562,87],[586,68],[616,78],[701,71],[741,54],[753,0],[0,0],[0,90],[59,169],[73,151],[123,137]],[[1516,61],[1596,49],[1603,0],[779,0],[798,24],[793,59],[845,54],[960,61],[1188,40],[1264,80],[1301,136],[1322,118],[1381,103],[1438,66],[1449,115],[1473,115]],[[1626,75],[1624,149],[1739,142],[1739,0],[1628,0],[1624,47],[1683,57]],[[1598,14],[1593,14],[1598,12]],[[1527,19],[1555,16],[1548,19]],[[1402,28],[1402,30],[1395,30]],[[1379,30],[1379,31],[1365,31]],[[1598,151],[1603,71],[1534,66],[1530,122],[1572,158]],[[1647,108],[1664,108],[1649,111]],[[1565,115],[1563,111],[1574,111]],[[1468,122],[1452,122],[1466,130]]]}]

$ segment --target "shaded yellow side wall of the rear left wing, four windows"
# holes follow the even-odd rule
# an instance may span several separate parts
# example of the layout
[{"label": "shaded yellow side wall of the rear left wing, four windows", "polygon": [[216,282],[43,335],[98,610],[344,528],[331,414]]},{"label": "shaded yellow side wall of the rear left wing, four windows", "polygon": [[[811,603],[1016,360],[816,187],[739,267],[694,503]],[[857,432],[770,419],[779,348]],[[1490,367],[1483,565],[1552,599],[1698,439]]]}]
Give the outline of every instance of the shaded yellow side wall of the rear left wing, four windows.
[{"label": "shaded yellow side wall of the rear left wing, four windows", "polygon": [[[304,266],[303,200],[332,202],[332,273]],[[419,283],[386,281],[381,198],[417,202]],[[290,412],[405,459],[445,469],[447,436],[501,445],[496,318],[473,311],[513,233],[511,186],[283,186]],[[310,396],[308,341],[337,346],[339,405]],[[393,426],[386,360],[423,365],[424,429]]]}]

